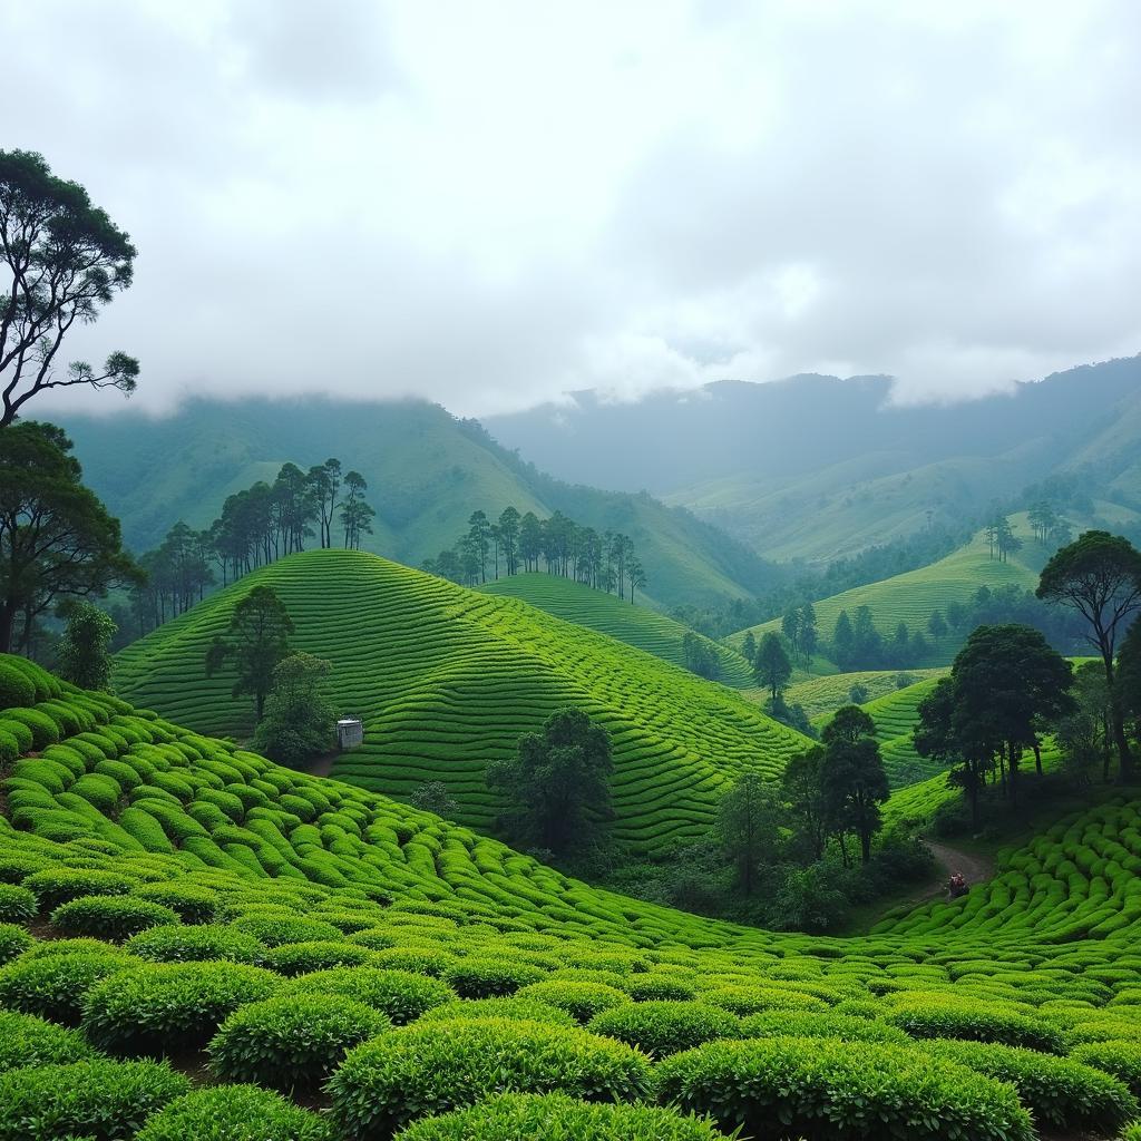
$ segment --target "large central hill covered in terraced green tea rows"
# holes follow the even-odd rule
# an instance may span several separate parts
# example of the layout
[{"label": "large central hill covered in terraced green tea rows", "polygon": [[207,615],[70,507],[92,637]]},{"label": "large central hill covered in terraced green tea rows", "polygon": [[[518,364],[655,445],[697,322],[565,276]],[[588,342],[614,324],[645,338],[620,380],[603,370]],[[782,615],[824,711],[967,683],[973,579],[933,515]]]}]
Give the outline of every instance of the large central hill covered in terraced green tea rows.
[{"label": "large central hill covered in terraced green tea rows", "polygon": [[285,604],[296,647],[333,663],[340,710],[365,721],[365,744],[334,775],[396,795],[442,780],[464,823],[494,815],[486,764],[566,705],[610,733],[616,835],[644,851],[706,827],[743,766],[776,772],[803,744],[734,690],[650,654],[354,551],[296,555],[207,599],[120,654],[118,691],[200,731],[248,733],[250,703],[230,697],[230,677],[205,680],[203,661],[259,583]]}]

